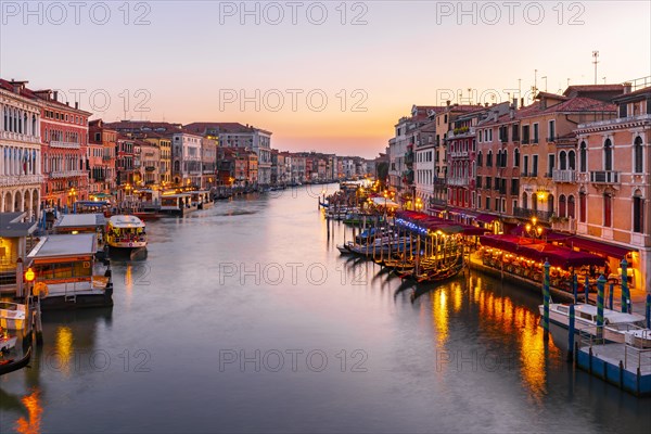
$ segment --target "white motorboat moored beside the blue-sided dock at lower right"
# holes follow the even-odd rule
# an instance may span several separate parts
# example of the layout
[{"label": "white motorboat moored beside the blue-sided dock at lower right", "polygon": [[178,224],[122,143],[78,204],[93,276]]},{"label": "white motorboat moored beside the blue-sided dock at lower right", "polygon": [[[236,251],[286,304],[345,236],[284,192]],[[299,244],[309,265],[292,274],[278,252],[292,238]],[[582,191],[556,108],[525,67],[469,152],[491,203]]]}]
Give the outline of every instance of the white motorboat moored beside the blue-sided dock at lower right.
[{"label": "white motorboat moored beside the blue-sided dock at lower right", "polygon": [[[539,306],[544,315],[544,305]],[[597,306],[585,303],[574,305],[575,329],[578,333],[597,335]],[[551,303],[549,322],[564,329],[570,327],[570,305]],[[603,339],[608,342],[628,343],[636,346],[651,346],[651,330],[646,329],[644,317],[603,309]]]}]

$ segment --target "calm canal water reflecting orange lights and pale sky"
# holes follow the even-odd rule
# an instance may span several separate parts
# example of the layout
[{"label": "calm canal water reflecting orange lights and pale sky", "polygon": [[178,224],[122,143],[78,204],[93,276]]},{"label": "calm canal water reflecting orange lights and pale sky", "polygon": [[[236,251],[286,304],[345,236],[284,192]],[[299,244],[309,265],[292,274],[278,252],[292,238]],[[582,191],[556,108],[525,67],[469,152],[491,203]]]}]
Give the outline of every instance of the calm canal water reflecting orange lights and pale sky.
[{"label": "calm canal water reflecting orange lights and pale sky", "polygon": [[651,400],[544,339],[539,294],[340,256],[322,189],[148,224],[112,309],[46,314],[31,368],[0,379],[0,431],[648,432]]}]

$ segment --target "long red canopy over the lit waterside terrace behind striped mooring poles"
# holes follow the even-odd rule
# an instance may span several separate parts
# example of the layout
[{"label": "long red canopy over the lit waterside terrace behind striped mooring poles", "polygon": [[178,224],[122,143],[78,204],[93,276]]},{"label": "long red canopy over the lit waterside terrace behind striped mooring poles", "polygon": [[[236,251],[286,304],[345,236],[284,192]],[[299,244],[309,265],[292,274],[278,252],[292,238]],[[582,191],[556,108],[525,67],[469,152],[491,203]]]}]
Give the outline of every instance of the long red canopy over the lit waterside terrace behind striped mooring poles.
[{"label": "long red canopy over the lit waterside terrace behind striped mooring poles", "polygon": [[600,256],[516,235],[484,235],[480,238],[480,242],[484,246],[499,248],[527,259],[548,260],[554,267],[577,268],[604,265],[604,259]]}]

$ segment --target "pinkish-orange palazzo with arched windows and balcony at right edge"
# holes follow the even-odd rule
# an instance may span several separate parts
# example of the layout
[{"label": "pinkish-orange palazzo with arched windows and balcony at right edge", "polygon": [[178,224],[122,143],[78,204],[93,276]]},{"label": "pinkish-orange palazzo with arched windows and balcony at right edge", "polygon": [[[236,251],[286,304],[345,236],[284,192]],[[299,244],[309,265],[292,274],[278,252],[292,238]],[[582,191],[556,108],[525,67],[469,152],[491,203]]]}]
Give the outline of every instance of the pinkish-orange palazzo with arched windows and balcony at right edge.
[{"label": "pinkish-orange palazzo with arched windows and balcony at right edge", "polygon": [[[628,250],[633,286],[651,292],[651,88],[613,101],[616,117],[576,130],[576,231]],[[623,258],[610,259],[615,270]]]}]

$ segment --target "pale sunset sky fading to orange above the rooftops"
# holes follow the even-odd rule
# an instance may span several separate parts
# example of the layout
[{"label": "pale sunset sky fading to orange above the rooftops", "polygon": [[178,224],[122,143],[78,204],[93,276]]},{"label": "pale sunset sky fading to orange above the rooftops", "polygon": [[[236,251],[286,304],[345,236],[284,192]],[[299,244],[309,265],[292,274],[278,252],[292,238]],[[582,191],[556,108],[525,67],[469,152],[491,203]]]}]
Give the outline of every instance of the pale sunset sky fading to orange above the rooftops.
[{"label": "pale sunset sky fading to orange above the rooftops", "polygon": [[[23,1],[0,3],[2,78],[60,89],[71,103],[71,89],[82,89],[81,107],[105,120],[126,112],[251,124],[271,130],[280,150],[372,157],[412,104],[444,104],[459,90],[468,98],[469,88],[475,103],[481,94],[499,102],[519,78],[528,90],[535,69],[540,90],[562,91],[569,78],[592,84],[593,50],[599,82],[651,76],[649,1],[514,2],[512,18],[501,1],[464,2],[467,15],[456,1],[297,1],[295,24],[285,1],[247,2],[258,13],[244,16],[239,1],[89,1],[78,23],[67,1],[63,10],[31,2],[31,15]],[[241,92],[252,99],[244,106]]]}]

